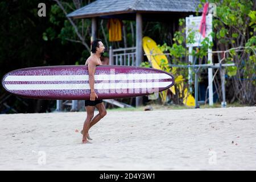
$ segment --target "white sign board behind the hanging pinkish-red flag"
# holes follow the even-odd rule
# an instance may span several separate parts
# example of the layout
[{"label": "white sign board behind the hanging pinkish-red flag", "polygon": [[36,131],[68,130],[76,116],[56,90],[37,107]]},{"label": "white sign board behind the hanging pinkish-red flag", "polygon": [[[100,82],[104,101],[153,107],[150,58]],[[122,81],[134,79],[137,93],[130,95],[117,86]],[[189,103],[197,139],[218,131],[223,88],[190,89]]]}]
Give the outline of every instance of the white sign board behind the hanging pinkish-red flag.
[{"label": "white sign board behind the hanging pinkish-red flag", "polygon": [[[188,37],[189,32],[195,31],[195,41],[196,41],[193,44],[187,44],[187,47],[201,46],[201,42],[204,40],[203,35],[201,35],[199,32],[201,19],[202,19],[202,16],[191,15],[189,17],[186,17],[186,38]],[[212,32],[212,14],[209,14],[206,17],[205,37],[209,37],[210,40],[212,41],[212,36],[210,36],[211,32]]]}]

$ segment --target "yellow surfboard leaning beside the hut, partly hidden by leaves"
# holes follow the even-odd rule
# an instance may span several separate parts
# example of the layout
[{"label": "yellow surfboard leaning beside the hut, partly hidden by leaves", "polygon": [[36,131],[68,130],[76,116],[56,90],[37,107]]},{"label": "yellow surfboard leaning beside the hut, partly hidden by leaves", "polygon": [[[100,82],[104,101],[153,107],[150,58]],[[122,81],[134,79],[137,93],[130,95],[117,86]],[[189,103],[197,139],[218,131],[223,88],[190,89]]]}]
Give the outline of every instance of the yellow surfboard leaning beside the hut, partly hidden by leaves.
[{"label": "yellow surfboard leaning beside the hut, partly hidden by leaves", "polygon": [[[144,52],[147,56],[148,61],[155,69],[161,69],[160,65],[161,63],[165,64],[164,68],[166,71],[170,71],[170,67],[168,65],[168,59],[166,55],[163,54],[161,49],[156,45],[156,42],[149,38],[148,36],[144,36],[142,39],[142,46],[144,49]],[[172,74],[176,74],[176,68],[172,68]],[[179,75],[175,77],[175,83],[182,82],[184,80],[182,75]],[[183,89],[183,83],[181,84],[180,90]],[[171,92],[175,93],[174,86],[171,86],[170,88]],[[195,98],[187,92],[187,89],[184,90],[185,97],[183,98],[183,104],[187,106],[195,106]]]}]

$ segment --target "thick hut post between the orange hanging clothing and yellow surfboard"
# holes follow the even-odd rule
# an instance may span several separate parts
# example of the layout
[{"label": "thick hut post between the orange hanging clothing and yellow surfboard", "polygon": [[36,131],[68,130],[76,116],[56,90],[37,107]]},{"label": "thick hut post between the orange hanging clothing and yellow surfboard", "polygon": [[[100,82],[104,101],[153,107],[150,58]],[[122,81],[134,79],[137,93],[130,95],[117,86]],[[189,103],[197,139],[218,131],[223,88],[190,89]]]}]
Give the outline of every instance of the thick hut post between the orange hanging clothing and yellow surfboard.
[{"label": "thick hut post between the orange hanging clothing and yellow surfboard", "polygon": [[[136,13],[136,66],[142,63],[142,15]],[[142,105],[142,96],[136,97],[136,107]]]}]

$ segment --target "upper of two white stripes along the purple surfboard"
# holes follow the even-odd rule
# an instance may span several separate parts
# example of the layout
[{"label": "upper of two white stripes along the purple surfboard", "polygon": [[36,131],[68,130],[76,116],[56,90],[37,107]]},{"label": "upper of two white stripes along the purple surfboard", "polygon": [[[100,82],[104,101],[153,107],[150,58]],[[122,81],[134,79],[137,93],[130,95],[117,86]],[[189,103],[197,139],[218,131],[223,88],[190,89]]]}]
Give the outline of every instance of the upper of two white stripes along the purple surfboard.
[{"label": "upper of two white stripes along the purple surfboard", "polygon": [[[142,74],[116,74],[116,75],[94,75],[97,81],[105,80],[159,80],[172,78],[166,73],[142,73]],[[33,75],[17,76],[10,75],[4,81],[86,81],[88,75]]]}]

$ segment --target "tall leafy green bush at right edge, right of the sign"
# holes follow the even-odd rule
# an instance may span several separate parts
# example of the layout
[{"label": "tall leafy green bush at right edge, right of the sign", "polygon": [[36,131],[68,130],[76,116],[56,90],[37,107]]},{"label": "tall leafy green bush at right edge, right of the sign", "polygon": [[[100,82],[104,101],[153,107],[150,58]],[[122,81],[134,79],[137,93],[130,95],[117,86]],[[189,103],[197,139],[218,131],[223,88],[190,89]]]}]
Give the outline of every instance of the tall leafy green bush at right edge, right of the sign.
[{"label": "tall leafy green bush at right edge, right of the sign", "polygon": [[[233,88],[236,98],[242,103],[256,102],[255,80],[255,43],[256,43],[256,11],[255,1],[224,0],[216,3],[217,17],[213,20],[217,45],[222,49],[250,47],[245,51],[230,51],[225,63],[235,63],[236,67],[228,67],[227,74],[233,77]],[[235,81],[240,80],[240,81]],[[246,97],[245,97],[246,95]]]}]

